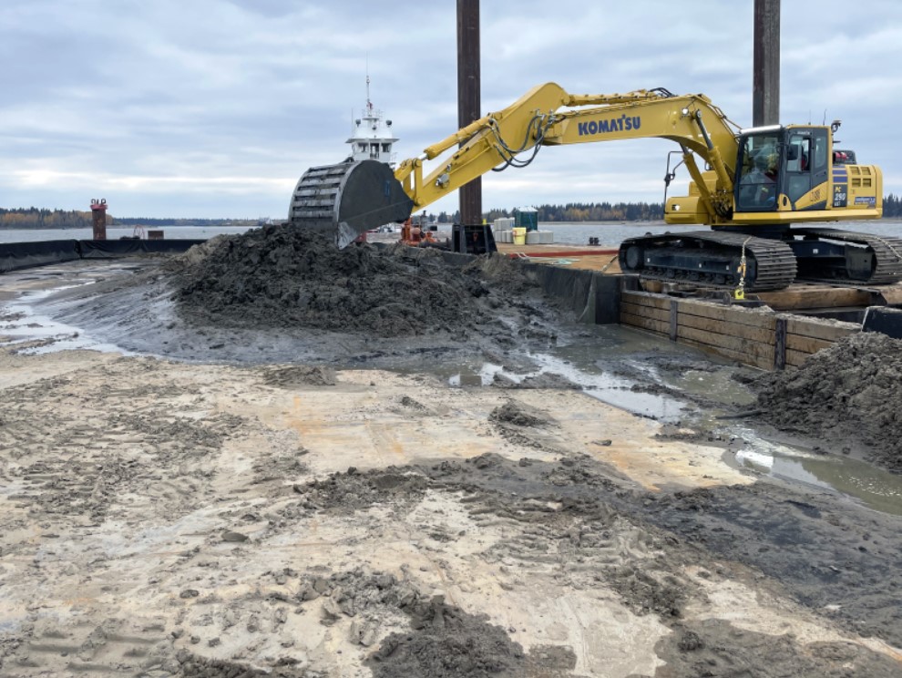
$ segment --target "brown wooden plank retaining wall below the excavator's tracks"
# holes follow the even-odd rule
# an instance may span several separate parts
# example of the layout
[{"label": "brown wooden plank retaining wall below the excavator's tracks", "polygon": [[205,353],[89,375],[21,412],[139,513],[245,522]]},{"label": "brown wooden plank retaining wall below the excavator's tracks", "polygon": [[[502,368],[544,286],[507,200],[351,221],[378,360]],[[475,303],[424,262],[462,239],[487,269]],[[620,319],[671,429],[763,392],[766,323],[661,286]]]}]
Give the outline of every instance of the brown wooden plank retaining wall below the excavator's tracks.
[{"label": "brown wooden plank retaining wall below the excavator's tracks", "polygon": [[854,323],[647,292],[620,292],[620,324],[764,370],[802,365],[860,331]]}]

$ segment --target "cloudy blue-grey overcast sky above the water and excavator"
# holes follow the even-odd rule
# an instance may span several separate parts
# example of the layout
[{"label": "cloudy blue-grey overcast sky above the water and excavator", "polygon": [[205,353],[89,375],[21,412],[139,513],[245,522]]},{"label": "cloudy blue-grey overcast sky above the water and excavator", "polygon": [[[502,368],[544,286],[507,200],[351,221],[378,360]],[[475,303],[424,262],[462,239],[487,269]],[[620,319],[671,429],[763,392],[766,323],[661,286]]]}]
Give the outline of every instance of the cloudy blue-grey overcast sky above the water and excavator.
[{"label": "cloudy blue-grey overcast sky above the water and excavator", "polygon": [[[702,92],[752,123],[753,0],[483,0],[480,30],[484,113],[554,81]],[[782,121],[841,118],[902,193],[902,2],[784,0],[781,34]],[[347,156],[367,70],[398,159],[457,128],[453,0],[0,0],[0,56],[5,208],[282,219],[304,170]],[[485,177],[483,208],[660,201],[675,148],[542,149]]]}]

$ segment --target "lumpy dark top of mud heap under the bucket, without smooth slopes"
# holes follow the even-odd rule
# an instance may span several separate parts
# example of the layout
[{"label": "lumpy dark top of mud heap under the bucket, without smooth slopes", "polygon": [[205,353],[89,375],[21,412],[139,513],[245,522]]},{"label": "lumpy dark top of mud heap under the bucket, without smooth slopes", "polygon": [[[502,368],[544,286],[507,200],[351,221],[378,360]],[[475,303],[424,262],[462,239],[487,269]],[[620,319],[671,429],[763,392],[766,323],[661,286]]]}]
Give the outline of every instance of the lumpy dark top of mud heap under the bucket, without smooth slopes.
[{"label": "lumpy dark top of mud heap under the bucket, without smooth slopes", "polygon": [[183,315],[231,327],[395,337],[472,330],[538,293],[515,262],[448,264],[435,249],[335,248],[287,224],[214,239],[176,265]]}]

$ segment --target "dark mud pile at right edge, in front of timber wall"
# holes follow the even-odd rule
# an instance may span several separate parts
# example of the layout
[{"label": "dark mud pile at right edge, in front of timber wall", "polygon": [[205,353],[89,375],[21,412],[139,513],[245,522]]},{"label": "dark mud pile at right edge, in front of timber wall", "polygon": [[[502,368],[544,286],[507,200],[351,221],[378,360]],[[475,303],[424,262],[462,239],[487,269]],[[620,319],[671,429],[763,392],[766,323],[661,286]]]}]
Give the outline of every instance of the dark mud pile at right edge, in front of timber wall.
[{"label": "dark mud pile at right edge, in front of timber wall", "polygon": [[[864,443],[869,455],[902,473],[902,341],[852,334],[792,372],[755,385],[761,416],[783,430],[829,440],[835,451]],[[834,451],[834,450],[831,450]]]}]

